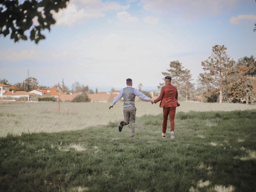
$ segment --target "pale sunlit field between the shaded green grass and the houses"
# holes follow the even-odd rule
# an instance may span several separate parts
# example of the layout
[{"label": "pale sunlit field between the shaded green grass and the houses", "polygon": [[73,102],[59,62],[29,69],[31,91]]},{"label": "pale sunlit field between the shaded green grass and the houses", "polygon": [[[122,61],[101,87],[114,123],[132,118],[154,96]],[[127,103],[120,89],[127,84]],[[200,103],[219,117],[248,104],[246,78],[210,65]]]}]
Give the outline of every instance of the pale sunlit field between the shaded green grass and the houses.
[{"label": "pale sunlit field between the shaded green grass and the houses", "polygon": [[[111,110],[110,103],[61,103],[58,114],[57,102],[0,103],[0,136],[22,132],[61,132],[81,130],[91,126],[107,125],[123,118],[122,102]],[[162,114],[159,104],[136,102],[136,116]],[[256,105],[181,102],[177,112],[232,111],[256,109]]]}]

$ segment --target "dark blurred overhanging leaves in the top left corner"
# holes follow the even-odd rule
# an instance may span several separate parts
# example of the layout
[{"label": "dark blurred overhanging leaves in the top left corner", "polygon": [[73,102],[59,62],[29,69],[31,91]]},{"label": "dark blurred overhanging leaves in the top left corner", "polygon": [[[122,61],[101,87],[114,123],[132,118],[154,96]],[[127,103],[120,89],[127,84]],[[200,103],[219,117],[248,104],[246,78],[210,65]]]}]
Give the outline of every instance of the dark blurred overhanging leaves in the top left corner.
[{"label": "dark blurred overhanging leaves in the top left corner", "polygon": [[[45,39],[41,32],[50,31],[55,24],[52,11],[58,12],[66,8],[69,0],[0,0],[0,36],[11,34],[14,42],[27,40],[26,31],[30,32],[30,40],[36,44]],[[33,20],[38,20],[35,24]]]}]

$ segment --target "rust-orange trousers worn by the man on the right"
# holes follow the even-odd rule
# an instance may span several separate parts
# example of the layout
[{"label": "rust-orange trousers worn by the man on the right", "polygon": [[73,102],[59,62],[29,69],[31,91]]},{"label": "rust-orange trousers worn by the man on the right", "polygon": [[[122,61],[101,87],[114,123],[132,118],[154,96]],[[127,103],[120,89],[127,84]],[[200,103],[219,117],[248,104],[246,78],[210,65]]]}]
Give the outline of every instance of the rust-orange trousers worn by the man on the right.
[{"label": "rust-orange trousers worn by the man on the right", "polygon": [[164,114],[163,128],[162,128],[163,133],[166,133],[168,116],[170,118],[171,130],[174,131],[175,112],[176,112],[176,107],[164,107],[163,108],[163,114]]}]

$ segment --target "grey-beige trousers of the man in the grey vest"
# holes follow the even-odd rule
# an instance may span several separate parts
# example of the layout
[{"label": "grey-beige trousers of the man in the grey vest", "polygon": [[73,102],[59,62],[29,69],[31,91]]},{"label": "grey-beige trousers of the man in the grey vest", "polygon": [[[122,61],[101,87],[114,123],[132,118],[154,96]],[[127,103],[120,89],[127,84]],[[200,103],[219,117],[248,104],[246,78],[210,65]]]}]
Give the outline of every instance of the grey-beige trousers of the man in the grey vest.
[{"label": "grey-beige trousers of the man in the grey vest", "polygon": [[124,123],[128,125],[131,122],[130,136],[134,136],[136,118],[136,107],[124,107]]}]

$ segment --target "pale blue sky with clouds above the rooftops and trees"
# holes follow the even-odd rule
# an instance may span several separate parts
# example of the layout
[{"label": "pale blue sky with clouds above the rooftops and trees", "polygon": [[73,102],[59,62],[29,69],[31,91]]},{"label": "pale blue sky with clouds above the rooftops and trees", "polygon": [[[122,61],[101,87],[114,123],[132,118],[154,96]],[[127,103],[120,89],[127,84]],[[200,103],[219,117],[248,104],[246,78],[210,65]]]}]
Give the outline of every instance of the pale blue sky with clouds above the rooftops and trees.
[{"label": "pale blue sky with clouds above the rooftops and trees", "polygon": [[217,44],[234,60],[256,56],[255,0],[70,0],[53,16],[38,44],[0,36],[0,79],[22,82],[29,70],[44,86],[64,79],[107,91],[132,78],[153,90],[174,60],[196,83]]}]

